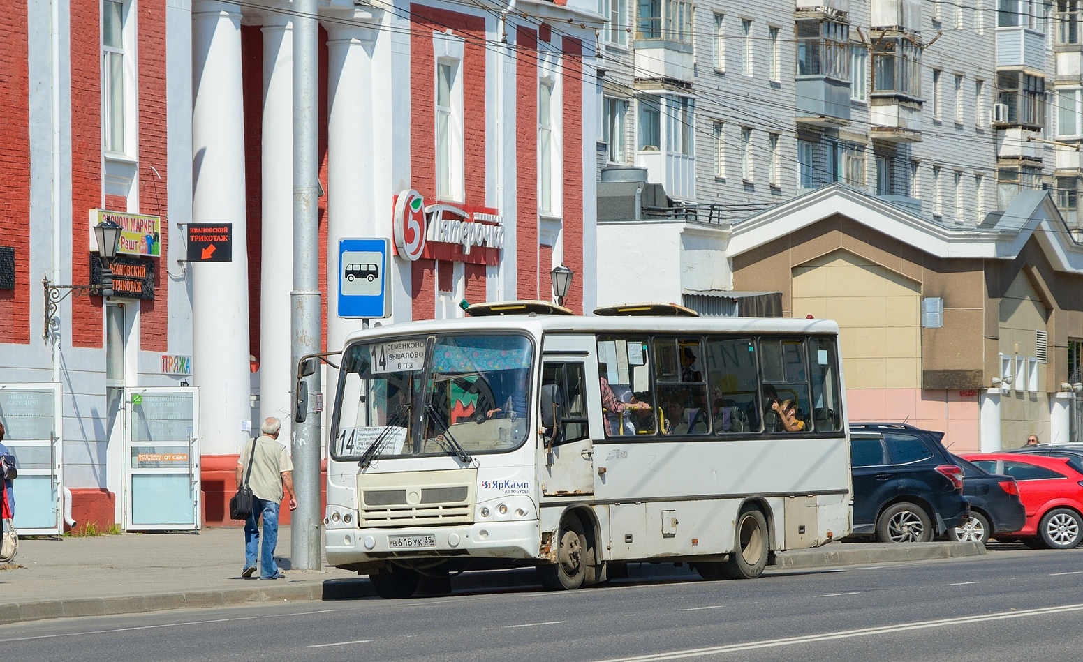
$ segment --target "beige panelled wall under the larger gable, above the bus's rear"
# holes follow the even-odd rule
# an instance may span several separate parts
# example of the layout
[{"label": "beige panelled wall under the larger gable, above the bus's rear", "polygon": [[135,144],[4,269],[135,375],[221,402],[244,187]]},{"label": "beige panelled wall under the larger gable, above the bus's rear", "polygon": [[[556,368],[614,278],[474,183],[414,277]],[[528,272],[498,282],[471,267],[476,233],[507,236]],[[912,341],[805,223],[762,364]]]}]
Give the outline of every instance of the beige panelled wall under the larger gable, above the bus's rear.
[{"label": "beige panelled wall under the larger gable, above the bus's rear", "polygon": [[847,389],[921,388],[921,286],[849,251],[793,270],[793,317],[838,321]]}]

